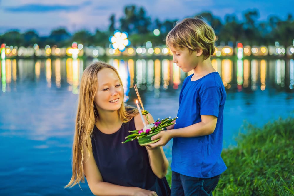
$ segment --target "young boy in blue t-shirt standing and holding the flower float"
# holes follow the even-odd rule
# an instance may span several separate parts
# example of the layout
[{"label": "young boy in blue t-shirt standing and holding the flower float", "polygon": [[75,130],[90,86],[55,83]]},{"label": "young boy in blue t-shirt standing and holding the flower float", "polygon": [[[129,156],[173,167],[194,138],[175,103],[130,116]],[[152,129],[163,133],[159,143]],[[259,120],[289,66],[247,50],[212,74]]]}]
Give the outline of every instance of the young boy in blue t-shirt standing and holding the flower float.
[{"label": "young boy in blue t-shirt standing and holding the flower float", "polygon": [[176,24],[166,37],[173,62],[185,78],[179,97],[178,119],[170,130],[161,131],[151,147],[163,146],[173,138],[171,195],[212,195],[220,174],[227,167],[220,157],[223,146],[223,109],[226,92],[211,64],[215,33],[199,18]]}]

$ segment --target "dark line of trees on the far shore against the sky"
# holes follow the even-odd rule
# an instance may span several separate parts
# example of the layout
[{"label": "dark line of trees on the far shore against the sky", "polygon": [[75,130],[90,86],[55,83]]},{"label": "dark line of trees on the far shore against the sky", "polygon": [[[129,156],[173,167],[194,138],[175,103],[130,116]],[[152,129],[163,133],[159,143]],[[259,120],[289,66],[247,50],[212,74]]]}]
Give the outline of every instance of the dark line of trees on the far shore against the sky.
[{"label": "dark line of trees on the far shore against the sky", "polygon": [[[294,19],[288,14],[286,20],[278,16],[270,16],[268,21],[258,23],[259,11],[256,9],[243,14],[244,20],[238,20],[235,14],[225,16],[224,22],[210,12],[202,12],[194,16],[202,16],[216,31],[218,37],[217,45],[230,45],[235,47],[237,42],[244,45],[274,45],[276,41],[285,47],[292,45],[294,39]],[[193,17],[193,16],[191,16]],[[11,30],[0,35],[0,43],[10,46],[33,46],[38,43],[40,47],[46,45],[58,47],[71,46],[73,41],[82,43],[85,46],[109,45],[109,36],[118,29],[129,34],[132,46],[143,46],[146,41],[151,41],[153,46],[163,45],[164,38],[176,24],[178,19],[151,21],[143,7],[135,5],[126,6],[124,15],[118,19],[119,26],[116,26],[116,15],[109,18],[110,25],[106,31],[96,29],[95,33],[88,30],[80,30],[70,34],[65,28],[54,29],[47,37],[41,37],[35,30],[20,33],[19,30]],[[160,30],[160,35],[153,34],[154,29]]]}]

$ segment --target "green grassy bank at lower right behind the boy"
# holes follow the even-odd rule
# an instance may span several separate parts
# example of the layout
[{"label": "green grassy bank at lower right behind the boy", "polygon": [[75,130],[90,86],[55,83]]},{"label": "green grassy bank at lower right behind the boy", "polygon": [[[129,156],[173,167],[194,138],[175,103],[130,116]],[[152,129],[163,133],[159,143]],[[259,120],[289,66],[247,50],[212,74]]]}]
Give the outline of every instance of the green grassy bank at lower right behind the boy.
[{"label": "green grassy bank at lower right behind the boy", "polygon": [[[220,195],[294,195],[294,118],[262,128],[243,126],[237,146],[224,149],[228,169],[214,191]],[[168,181],[170,181],[168,172]]]}]

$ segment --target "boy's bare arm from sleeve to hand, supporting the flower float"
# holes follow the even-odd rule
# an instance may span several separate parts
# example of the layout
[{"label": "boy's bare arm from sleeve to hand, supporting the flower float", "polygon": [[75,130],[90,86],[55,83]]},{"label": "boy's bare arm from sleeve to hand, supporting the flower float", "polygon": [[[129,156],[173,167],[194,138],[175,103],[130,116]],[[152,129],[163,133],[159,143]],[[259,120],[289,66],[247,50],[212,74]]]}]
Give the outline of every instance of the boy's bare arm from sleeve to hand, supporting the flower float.
[{"label": "boy's bare arm from sleeve to hand, supporting the flower float", "polygon": [[150,147],[155,148],[158,146],[164,146],[168,143],[171,138],[184,137],[199,137],[203,135],[209,135],[214,132],[216,128],[216,122],[218,118],[212,115],[201,115],[201,122],[195,123],[188,127],[179,128],[179,129],[171,129],[167,131],[161,131],[158,134],[151,137],[151,140],[156,140],[160,138],[160,140],[156,143],[149,144]]}]

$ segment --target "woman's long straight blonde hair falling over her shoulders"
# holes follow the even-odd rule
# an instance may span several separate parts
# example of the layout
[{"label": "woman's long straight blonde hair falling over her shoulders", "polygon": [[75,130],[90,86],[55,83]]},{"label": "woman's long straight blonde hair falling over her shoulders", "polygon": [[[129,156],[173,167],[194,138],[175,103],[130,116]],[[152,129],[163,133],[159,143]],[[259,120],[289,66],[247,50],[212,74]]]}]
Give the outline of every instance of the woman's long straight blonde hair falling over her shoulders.
[{"label": "woman's long straight blonde hair falling over her shoulders", "polygon": [[[122,85],[121,78],[119,77],[116,68],[107,63],[93,63],[83,72],[74,133],[72,177],[70,182],[65,187],[73,187],[76,184],[80,185],[80,182],[85,182],[83,163],[85,163],[86,160],[84,160],[84,152],[87,150],[88,157],[90,156],[89,149],[92,148],[91,136],[95,122],[99,118],[98,111],[94,103],[94,96],[98,88],[99,79],[97,78],[97,74],[104,68],[112,69],[117,74]],[[128,110],[126,110],[126,108],[128,108]],[[124,103],[121,104],[121,107],[118,110],[118,115],[123,123],[130,121],[136,114],[138,114],[138,109],[130,106],[125,107]]]}]

